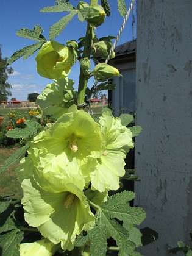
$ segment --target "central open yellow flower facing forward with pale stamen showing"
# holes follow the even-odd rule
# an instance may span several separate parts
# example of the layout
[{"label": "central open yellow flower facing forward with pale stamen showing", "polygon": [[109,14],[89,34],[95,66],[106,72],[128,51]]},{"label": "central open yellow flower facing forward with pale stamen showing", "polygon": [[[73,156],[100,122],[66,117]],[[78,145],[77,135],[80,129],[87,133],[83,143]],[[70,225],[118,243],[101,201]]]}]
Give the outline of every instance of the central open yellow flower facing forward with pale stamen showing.
[{"label": "central open yellow flower facing forward with pale stamen showing", "polygon": [[42,149],[41,158],[49,164],[65,166],[70,172],[88,158],[98,158],[104,151],[105,138],[101,126],[84,110],[72,105],[48,130],[40,132],[30,143]]}]

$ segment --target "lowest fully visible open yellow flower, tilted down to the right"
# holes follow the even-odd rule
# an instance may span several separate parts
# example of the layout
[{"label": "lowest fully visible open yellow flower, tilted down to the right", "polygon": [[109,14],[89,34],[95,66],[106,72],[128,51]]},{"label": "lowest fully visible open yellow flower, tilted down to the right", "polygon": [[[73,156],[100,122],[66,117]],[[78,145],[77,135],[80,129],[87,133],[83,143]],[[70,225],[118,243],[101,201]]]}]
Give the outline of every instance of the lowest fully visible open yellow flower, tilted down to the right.
[{"label": "lowest fully visible open yellow flower, tilted down to the right", "polygon": [[21,183],[26,221],[52,243],[73,249],[76,235],[94,226],[94,215],[82,191],[84,185],[80,175],[36,170],[34,178]]}]

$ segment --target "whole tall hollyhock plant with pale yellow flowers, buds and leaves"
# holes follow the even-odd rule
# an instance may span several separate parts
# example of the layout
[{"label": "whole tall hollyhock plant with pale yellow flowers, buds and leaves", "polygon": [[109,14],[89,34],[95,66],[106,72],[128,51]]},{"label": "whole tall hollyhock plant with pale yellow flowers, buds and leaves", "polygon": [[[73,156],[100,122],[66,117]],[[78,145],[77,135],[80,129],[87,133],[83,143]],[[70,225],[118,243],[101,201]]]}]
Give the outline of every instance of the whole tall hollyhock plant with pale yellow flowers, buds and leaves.
[{"label": "whole tall hollyhock plant with pale yellow flowers, buds and leaves", "polygon": [[[49,41],[39,25],[33,30],[19,30],[20,37],[37,43],[15,52],[9,59],[10,64],[38,51],[37,72],[52,82],[37,98],[40,109],[29,111],[30,120],[25,120],[23,113],[15,115],[12,111],[6,126],[16,128],[8,132],[8,128],[4,129],[7,137],[24,145],[4,167],[21,158],[16,173],[23,198],[21,204],[9,197],[0,199],[5,219],[0,235],[2,241],[12,241],[10,249],[8,243],[0,243],[1,251],[12,254],[14,247],[15,255],[21,256],[109,255],[110,251],[136,255],[134,250],[141,244],[141,235],[134,225],[139,225],[146,215],[140,207],[130,207],[134,193],[126,191],[124,182],[122,192],[117,190],[120,178],[138,178],[132,175],[134,170],[125,170],[124,166],[126,154],[134,146],[132,137],[141,129],[127,128],[133,116],[122,114],[115,118],[108,108],[102,109],[99,118],[90,115],[91,99],[102,90],[114,90],[114,81],[111,83],[108,79],[121,76],[118,69],[108,64],[115,55],[119,35],[105,35],[100,39],[96,36],[96,27],[99,30],[110,16],[108,0],[101,1],[101,5],[98,0],[90,0],[90,4],[79,1],[76,7],[71,2],[57,0],[55,6],[41,9],[41,12],[68,14],[50,27]],[[125,16],[124,1],[117,3],[121,16]],[[75,15],[87,23],[85,36],[77,41],[68,38],[66,45],[53,40]],[[74,35],[75,29],[74,26]],[[112,47],[113,39],[116,42]],[[105,63],[104,58],[107,58]],[[68,77],[76,61],[78,84]],[[95,66],[91,68],[93,62]],[[11,215],[4,216],[10,204]],[[112,246],[108,238],[115,240]]]}]

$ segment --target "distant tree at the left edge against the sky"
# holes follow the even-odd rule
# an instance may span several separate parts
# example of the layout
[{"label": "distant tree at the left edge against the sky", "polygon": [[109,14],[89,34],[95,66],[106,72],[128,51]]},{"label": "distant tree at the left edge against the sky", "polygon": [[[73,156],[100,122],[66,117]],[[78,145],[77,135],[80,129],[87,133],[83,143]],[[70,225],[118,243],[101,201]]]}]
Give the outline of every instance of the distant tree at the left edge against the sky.
[{"label": "distant tree at the left edge against the sky", "polygon": [[7,82],[8,75],[13,73],[13,68],[7,68],[8,58],[2,58],[0,44],[0,102],[7,101],[7,96],[12,96],[10,89],[12,86]]}]

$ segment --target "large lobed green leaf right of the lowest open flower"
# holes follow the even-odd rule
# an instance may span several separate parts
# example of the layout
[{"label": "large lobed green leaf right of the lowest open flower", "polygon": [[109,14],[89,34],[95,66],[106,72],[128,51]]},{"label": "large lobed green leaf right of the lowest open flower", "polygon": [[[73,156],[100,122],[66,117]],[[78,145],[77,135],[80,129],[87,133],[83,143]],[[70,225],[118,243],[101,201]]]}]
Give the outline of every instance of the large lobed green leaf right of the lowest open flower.
[{"label": "large lobed green leaf right of the lowest open flower", "polygon": [[[89,240],[90,255],[104,256],[107,251],[107,238],[110,236],[116,240],[119,255],[133,255],[135,242],[130,240],[126,227],[129,224],[132,224],[131,227],[133,224],[140,224],[146,217],[143,209],[129,206],[128,201],[134,197],[135,194],[131,191],[123,191],[110,196],[107,202],[102,203],[101,207],[97,207],[96,224],[93,229],[87,232],[87,237],[81,236],[77,244],[82,246]],[[121,222],[126,226],[122,226]]]}]

